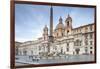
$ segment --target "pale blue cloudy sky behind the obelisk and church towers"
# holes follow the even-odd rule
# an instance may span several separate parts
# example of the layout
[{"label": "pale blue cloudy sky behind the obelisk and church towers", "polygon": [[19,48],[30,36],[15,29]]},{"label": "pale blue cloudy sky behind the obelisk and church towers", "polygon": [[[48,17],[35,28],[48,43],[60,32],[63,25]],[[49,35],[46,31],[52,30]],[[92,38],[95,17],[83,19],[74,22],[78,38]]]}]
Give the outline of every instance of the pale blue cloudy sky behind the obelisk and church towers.
[{"label": "pale blue cloudy sky behind the obelisk and church towers", "polygon": [[[54,28],[60,16],[65,24],[68,14],[72,17],[73,28],[94,22],[94,8],[53,6]],[[42,36],[45,25],[49,28],[50,6],[46,5],[15,5],[15,41],[36,40]]]}]

